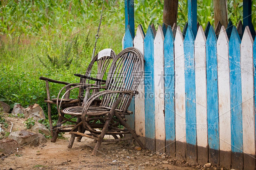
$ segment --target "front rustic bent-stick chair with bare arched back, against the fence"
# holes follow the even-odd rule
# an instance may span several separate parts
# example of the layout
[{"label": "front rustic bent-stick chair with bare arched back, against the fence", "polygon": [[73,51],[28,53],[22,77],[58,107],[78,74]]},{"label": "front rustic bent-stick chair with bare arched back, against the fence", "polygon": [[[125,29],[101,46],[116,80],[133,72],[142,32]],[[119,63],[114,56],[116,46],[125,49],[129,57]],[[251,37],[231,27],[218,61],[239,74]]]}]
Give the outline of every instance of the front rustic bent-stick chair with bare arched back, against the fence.
[{"label": "front rustic bent-stick chair with bare arched back, against the fence", "polygon": [[[82,120],[69,132],[72,134],[68,145],[69,148],[72,147],[75,137],[81,136],[97,141],[92,155],[97,154],[102,142],[135,139],[142,148],[145,148],[137,137],[135,130],[131,129],[125,122],[125,115],[132,114],[127,109],[132,97],[138,94],[136,90],[143,70],[144,60],[141,53],[136,48],[126,48],[113,60],[105,86],[84,84],[87,89],[104,90],[94,93],[88,100],[84,100],[82,106],[68,107],[60,110],[62,114],[77,116]],[[94,101],[98,99],[101,99],[100,105],[93,105]],[[100,123],[95,123],[95,121],[100,121]],[[118,128],[119,124],[123,125],[125,129]],[[79,132],[79,127],[84,128],[90,133],[84,134],[85,130]],[[132,136],[123,138],[124,134],[131,134]],[[114,139],[104,139],[105,135],[112,135]]]}]

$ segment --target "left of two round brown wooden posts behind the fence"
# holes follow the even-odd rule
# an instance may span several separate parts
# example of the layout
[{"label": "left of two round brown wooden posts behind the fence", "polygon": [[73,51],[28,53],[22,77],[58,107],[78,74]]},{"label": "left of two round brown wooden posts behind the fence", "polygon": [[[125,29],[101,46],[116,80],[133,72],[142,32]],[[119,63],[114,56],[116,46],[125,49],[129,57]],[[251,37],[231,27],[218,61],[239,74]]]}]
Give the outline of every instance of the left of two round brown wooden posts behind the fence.
[{"label": "left of two round brown wooden posts behind the fence", "polygon": [[177,22],[179,0],[164,0],[163,23],[173,26]]}]

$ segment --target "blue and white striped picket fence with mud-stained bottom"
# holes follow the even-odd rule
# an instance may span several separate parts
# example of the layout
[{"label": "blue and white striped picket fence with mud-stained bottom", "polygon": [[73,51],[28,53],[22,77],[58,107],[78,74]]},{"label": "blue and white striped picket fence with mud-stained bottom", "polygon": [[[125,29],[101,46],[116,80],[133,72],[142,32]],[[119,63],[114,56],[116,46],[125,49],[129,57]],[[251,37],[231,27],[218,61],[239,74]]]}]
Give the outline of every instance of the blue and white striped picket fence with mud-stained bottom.
[{"label": "blue and white striped picket fence with mud-stained bottom", "polygon": [[148,149],[255,169],[256,40],[242,27],[218,25],[215,33],[198,25],[193,33],[191,26],[151,25],[145,35],[139,25],[133,39],[127,26],[124,48],[138,48],[145,59],[128,122]]}]

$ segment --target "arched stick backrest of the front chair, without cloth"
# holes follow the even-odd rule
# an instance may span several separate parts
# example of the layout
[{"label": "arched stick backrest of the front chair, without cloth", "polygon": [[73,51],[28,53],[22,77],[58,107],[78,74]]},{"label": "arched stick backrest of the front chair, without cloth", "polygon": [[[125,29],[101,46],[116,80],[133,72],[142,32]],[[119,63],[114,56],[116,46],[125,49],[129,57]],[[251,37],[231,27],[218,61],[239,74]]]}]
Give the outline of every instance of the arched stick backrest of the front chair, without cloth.
[{"label": "arched stick backrest of the front chair, without cloth", "polygon": [[[144,60],[136,48],[125,48],[113,60],[106,86],[113,91],[136,92],[144,71]],[[134,95],[134,94],[133,94]],[[133,95],[125,94],[117,109],[127,111]],[[103,96],[101,106],[112,107],[118,97],[117,93]]]}]

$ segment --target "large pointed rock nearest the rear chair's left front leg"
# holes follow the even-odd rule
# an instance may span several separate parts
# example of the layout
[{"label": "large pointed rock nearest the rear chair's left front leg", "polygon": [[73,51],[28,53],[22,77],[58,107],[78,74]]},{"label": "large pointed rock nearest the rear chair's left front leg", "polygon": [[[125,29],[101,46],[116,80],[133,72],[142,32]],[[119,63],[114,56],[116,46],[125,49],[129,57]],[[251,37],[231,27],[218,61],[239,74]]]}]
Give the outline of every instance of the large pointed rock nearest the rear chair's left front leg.
[{"label": "large pointed rock nearest the rear chair's left front leg", "polygon": [[32,118],[36,120],[37,122],[40,119],[45,119],[44,115],[44,110],[38,105],[38,104],[33,104],[30,105],[28,108],[25,109],[24,112],[25,118]]}]

